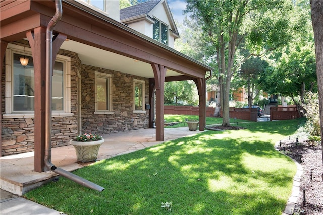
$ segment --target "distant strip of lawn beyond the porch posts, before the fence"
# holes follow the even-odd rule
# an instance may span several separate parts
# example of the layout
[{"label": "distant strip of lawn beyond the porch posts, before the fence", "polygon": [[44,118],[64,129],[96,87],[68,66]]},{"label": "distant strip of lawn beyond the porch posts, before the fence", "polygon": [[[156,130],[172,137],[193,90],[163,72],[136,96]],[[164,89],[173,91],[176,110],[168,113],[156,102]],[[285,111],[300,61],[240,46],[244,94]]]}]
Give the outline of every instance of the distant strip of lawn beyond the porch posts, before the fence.
[{"label": "distant strip of lawn beyond the porch posts, before the fence", "polygon": [[[166,122],[181,122],[177,125],[172,125],[172,126],[167,126],[167,128],[178,128],[178,127],[187,127],[187,124],[184,123],[185,119],[188,121],[198,121],[198,116],[195,115],[170,115],[170,114],[165,114],[164,115],[164,120]],[[230,119],[230,123],[235,123],[235,122],[250,122],[247,120],[243,119]],[[222,118],[218,117],[206,117],[206,125],[214,125],[214,124],[222,124]]]}]

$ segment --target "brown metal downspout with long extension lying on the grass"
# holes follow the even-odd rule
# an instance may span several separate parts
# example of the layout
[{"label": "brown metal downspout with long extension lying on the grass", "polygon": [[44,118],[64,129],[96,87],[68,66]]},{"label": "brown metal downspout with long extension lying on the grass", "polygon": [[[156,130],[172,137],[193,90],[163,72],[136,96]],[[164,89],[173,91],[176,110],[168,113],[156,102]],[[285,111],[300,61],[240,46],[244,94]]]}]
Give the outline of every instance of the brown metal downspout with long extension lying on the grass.
[{"label": "brown metal downspout with long extension lying on the grass", "polygon": [[66,170],[56,167],[51,163],[51,86],[52,86],[52,74],[53,74],[53,62],[52,62],[52,32],[54,26],[61,20],[62,0],[55,0],[55,15],[49,21],[46,29],[46,95],[45,95],[45,158],[44,162],[47,168],[53,172],[62,175],[72,181],[81,184],[85,187],[102,191],[103,187],[94,184],[88,180],[85,180],[77,175],[74,175]]}]

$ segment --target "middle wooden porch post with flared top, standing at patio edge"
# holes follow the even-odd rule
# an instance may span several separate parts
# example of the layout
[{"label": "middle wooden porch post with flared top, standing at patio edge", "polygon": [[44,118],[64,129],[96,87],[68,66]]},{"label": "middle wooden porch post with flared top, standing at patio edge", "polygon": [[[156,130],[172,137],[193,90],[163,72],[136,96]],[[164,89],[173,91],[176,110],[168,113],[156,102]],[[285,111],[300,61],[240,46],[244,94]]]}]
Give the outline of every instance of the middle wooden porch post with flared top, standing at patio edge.
[{"label": "middle wooden porch post with flared top, standing at patio edge", "polygon": [[156,85],[156,141],[164,141],[164,86],[167,68],[151,64]]}]

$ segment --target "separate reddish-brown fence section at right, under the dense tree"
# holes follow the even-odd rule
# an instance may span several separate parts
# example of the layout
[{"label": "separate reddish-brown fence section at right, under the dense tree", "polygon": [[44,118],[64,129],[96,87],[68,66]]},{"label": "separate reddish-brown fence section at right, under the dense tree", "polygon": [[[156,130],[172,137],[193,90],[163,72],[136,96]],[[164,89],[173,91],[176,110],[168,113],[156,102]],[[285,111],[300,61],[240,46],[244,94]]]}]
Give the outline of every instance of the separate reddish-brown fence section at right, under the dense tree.
[{"label": "separate reddish-brown fence section at right, under the dense tree", "polygon": [[271,121],[296,119],[299,117],[297,107],[271,107]]}]

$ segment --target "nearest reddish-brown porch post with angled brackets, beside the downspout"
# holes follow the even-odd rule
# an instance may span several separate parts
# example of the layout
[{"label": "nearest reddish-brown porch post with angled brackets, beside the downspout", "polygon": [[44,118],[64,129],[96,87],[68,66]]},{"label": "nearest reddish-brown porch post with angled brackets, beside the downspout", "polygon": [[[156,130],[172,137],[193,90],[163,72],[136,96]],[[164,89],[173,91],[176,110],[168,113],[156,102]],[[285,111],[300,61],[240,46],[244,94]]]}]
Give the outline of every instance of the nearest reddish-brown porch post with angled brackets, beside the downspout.
[{"label": "nearest reddish-brown porch post with angled brackets, beside the downspout", "polygon": [[[34,170],[47,171],[45,168],[45,79],[46,79],[46,28],[38,27],[34,32],[28,31],[27,38],[32,51],[35,74],[35,156]],[[52,43],[52,56],[55,62],[56,54],[66,39],[66,35],[59,34]],[[51,74],[50,74],[51,75]]]}]

